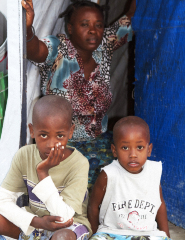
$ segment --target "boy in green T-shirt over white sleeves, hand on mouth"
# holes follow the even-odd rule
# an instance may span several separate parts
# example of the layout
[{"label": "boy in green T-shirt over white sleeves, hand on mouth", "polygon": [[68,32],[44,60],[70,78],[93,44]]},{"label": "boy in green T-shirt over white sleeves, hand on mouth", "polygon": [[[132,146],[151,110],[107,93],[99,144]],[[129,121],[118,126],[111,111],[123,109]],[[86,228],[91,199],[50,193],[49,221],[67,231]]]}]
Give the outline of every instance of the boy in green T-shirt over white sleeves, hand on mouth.
[{"label": "boy in green T-shirt over white sleeves, hand on mouth", "polygon": [[[19,149],[0,188],[0,234],[25,239],[88,239],[88,160],[67,146],[72,137],[70,103],[56,95],[39,99],[30,134],[36,144]],[[27,211],[16,205],[29,195]],[[20,230],[21,229],[21,230]]]}]

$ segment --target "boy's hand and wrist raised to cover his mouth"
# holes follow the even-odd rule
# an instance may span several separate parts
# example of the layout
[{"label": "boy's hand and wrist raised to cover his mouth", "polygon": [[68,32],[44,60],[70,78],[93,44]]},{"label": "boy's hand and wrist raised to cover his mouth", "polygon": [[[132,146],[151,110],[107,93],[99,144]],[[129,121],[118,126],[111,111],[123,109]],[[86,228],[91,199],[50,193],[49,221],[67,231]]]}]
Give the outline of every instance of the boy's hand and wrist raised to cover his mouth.
[{"label": "boy's hand and wrist raised to cover his mouth", "polygon": [[61,143],[56,143],[55,147],[51,149],[47,159],[43,160],[37,165],[37,174],[39,181],[49,176],[49,169],[55,167],[63,161],[64,146]]}]

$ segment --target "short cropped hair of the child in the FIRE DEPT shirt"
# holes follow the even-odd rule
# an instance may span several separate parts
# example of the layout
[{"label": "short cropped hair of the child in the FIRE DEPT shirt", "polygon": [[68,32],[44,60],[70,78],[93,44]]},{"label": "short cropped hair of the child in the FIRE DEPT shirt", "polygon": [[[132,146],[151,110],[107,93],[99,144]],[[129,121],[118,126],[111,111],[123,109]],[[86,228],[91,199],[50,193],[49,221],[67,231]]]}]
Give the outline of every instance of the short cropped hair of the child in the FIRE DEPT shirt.
[{"label": "short cropped hair of the child in the FIRE DEPT shirt", "polygon": [[148,124],[140,117],[137,116],[127,116],[124,118],[121,118],[119,121],[116,122],[113,128],[113,140],[114,143],[116,141],[116,138],[118,136],[118,133],[120,132],[120,129],[123,126],[141,126],[146,131],[146,136],[148,138],[148,142],[150,142],[150,129]]}]

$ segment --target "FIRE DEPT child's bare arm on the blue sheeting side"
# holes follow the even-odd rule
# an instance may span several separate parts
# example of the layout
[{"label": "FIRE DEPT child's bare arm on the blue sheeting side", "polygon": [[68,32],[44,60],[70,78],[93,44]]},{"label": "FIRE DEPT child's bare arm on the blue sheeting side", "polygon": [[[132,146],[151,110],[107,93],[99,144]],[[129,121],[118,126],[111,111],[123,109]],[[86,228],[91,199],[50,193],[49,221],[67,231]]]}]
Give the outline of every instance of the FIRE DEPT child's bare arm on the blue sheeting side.
[{"label": "FIRE DEPT child's bare arm on the blue sheeting side", "polygon": [[167,219],[167,211],[166,204],[163,199],[162,188],[160,185],[160,197],[161,197],[161,206],[157,212],[156,222],[158,224],[158,228],[161,231],[164,231],[166,235],[170,238],[169,228],[168,228],[168,219]]}]

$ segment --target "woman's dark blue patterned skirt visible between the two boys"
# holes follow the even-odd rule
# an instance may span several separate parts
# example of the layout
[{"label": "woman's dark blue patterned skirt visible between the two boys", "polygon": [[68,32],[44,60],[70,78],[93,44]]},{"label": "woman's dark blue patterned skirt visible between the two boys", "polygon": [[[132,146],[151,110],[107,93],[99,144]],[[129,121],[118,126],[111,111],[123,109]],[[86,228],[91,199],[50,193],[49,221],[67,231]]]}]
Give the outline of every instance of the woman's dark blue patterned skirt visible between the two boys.
[{"label": "woman's dark blue patterned skirt visible between the two boys", "polygon": [[111,163],[114,158],[111,151],[111,143],[113,143],[112,132],[102,133],[92,141],[68,142],[69,146],[78,149],[78,151],[89,160],[89,193],[92,190],[101,168]]}]

